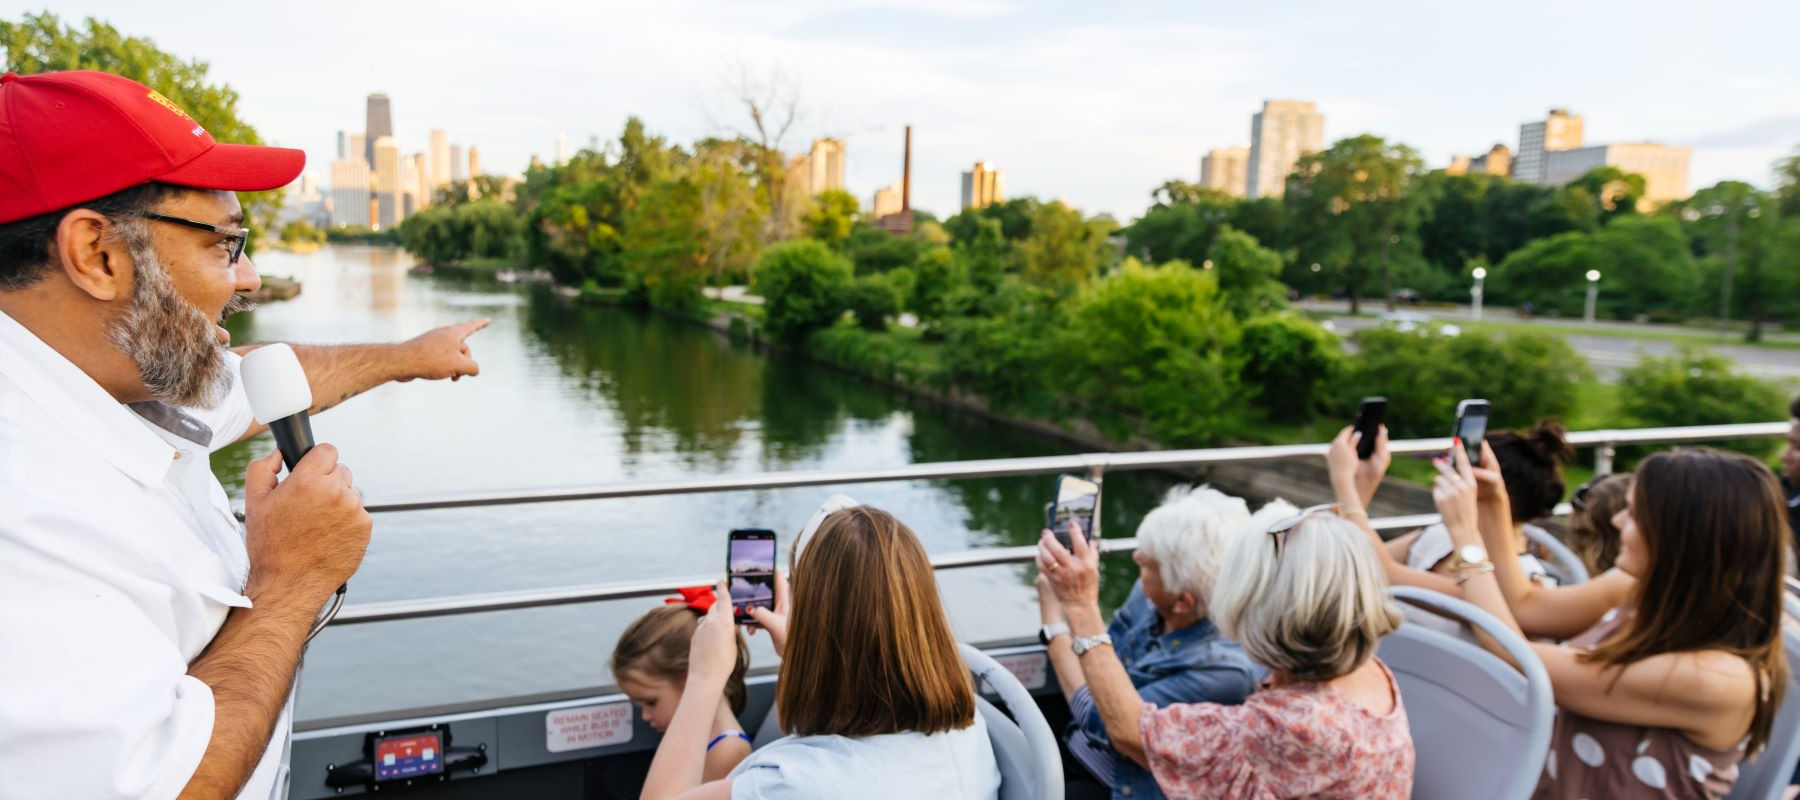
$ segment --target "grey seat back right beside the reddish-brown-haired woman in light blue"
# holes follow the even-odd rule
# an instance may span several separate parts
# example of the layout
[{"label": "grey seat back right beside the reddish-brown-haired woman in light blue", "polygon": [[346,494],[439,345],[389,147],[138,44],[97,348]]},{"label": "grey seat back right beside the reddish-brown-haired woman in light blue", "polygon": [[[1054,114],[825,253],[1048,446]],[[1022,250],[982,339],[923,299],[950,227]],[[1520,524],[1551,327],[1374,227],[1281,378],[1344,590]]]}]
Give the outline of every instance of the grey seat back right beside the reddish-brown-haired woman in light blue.
[{"label": "grey seat back right beside the reddish-brown-haired woman in light blue", "polygon": [[1031,692],[986,652],[970,645],[956,647],[976,674],[976,686],[992,690],[1012,712],[1008,717],[976,697],[977,714],[988,723],[994,760],[1001,768],[1001,800],[1062,800],[1062,751]]}]

